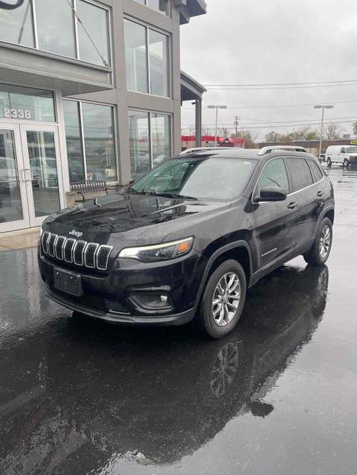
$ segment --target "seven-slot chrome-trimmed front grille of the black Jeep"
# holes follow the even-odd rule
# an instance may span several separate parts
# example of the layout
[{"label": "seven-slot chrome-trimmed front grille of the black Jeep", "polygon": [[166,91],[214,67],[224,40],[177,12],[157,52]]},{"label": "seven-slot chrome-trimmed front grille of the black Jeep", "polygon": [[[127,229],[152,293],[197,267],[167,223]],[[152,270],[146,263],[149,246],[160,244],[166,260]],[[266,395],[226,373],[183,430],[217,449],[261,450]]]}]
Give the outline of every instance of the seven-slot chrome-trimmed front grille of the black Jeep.
[{"label": "seven-slot chrome-trimmed front grille of the black Jeep", "polygon": [[66,238],[55,233],[42,233],[41,246],[44,255],[58,261],[90,269],[107,270],[112,246]]}]

